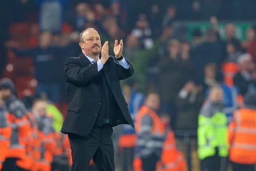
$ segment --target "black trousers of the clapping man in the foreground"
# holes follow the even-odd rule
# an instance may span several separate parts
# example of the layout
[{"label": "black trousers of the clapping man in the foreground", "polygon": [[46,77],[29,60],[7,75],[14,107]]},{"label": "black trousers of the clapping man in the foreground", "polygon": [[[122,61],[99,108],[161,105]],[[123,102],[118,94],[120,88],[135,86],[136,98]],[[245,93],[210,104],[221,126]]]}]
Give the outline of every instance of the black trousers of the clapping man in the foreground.
[{"label": "black trousers of the clapping man in the foreground", "polygon": [[93,159],[97,171],[114,171],[114,148],[110,125],[94,126],[87,136],[68,134],[73,164],[71,171],[89,171]]}]

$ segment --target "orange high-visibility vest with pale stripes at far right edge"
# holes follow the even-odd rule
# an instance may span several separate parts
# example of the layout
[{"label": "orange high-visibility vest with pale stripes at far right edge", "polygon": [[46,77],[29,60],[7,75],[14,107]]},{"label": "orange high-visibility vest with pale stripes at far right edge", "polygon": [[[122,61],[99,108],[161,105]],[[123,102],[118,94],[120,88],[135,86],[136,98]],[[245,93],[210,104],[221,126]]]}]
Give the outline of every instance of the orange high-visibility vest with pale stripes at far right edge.
[{"label": "orange high-visibility vest with pale stripes at far right edge", "polygon": [[256,163],[256,110],[239,109],[229,125],[229,158],[240,164]]}]

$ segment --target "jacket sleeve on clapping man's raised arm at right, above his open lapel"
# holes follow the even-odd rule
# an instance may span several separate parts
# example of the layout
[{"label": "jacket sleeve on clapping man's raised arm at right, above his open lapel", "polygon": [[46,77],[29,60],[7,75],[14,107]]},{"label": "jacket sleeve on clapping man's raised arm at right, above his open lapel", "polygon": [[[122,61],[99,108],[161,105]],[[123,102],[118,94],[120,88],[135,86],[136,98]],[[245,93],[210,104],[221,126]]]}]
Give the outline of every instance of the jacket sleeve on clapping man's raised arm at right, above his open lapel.
[{"label": "jacket sleeve on clapping man's raised arm at right, above his open lapel", "polygon": [[128,65],[129,65],[129,68],[128,68],[128,69],[125,69],[124,67],[122,67],[122,66],[119,64],[119,61],[118,61],[115,57],[113,57],[113,58],[114,58],[114,63],[115,63],[115,65],[116,65],[116,71],[117,71],[117,74],[118,74],[118,76],[119,76],[119,80],[124,80],[124,79],[126,79],[126,78],[131,77],[131,76],[134,74],[134,68],[133,68],[131,62],[130,62],[128,59],[126,59],[126,58],[124,57],[124,59],[126,60],[126,62],[127,62]]}]

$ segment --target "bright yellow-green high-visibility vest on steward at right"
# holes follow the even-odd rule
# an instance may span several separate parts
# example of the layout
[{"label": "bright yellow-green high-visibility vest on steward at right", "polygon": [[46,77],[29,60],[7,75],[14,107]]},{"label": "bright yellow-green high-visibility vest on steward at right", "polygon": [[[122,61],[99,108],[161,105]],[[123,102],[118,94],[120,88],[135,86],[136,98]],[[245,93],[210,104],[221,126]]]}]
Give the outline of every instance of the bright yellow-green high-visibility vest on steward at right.
[{"label": "bright yellow-green high-visibility vest on steward at right", "polygon": [[216,112],[212,117],[199,114],[198,117],[198,157],[203,160],[215,155],[227,157],[227,117],[224,113]]}]

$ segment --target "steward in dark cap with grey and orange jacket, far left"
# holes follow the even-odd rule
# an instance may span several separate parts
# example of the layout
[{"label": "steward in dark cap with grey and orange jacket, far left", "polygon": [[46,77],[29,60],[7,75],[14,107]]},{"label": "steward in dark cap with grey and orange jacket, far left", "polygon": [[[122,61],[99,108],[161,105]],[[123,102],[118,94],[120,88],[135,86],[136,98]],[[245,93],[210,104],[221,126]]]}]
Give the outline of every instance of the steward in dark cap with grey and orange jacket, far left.
[{"label": "steward in dark cap with grey and orange jacket, far left", "polygon": [[0,98],[3,99],[12,128],[11,141],[3,163],[3,171],[29,170],[31,162],[26,155],[26,143],[29,135],[29,121],[23,103],[15,96],[15,87],[11,80],[0,81]]}]

